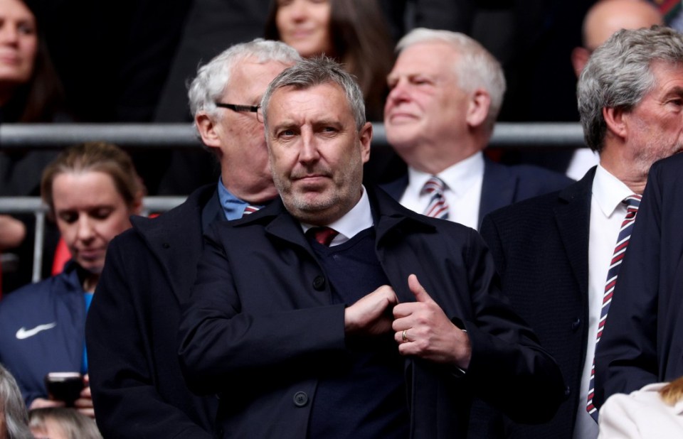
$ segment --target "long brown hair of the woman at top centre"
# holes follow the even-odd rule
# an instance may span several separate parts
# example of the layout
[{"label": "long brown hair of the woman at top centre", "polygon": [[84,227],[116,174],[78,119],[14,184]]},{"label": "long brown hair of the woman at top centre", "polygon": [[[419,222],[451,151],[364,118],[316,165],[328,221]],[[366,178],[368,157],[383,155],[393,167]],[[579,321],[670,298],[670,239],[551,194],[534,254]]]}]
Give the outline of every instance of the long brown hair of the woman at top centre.
[{"label": "long brown hair of the woman at top centre", "polygon": [[[393,43],[376,0],[329,0],[329,35],[334,53],[347,72],[358,80],[369,120],[381,120],[388,93],[386,76],[393,66]],[[280,40],[277,0],[272,0],[265,38]],[[322,54],[318,54],[322,55]]]}]

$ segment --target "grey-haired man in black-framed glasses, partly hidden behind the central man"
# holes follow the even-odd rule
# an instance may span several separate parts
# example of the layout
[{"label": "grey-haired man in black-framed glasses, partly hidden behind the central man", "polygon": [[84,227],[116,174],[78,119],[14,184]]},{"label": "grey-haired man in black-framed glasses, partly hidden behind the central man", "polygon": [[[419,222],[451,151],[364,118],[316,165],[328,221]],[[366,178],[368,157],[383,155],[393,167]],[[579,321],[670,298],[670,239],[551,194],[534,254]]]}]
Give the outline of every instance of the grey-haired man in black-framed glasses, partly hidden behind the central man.
[{"label": "grey-haired man in black-framed glasses, partly hidden behind the central man", "polygon": [[195,126],[221,164],[218,182],[159,218],[132,218],[112,240],[86,323],[95,418],[112,438],[211,438],[216,399],[186,388],[177,357],[202,234],[277,195],[260,99],[297,52],[275,41],[233,45],[203,65],[189,90]]}]

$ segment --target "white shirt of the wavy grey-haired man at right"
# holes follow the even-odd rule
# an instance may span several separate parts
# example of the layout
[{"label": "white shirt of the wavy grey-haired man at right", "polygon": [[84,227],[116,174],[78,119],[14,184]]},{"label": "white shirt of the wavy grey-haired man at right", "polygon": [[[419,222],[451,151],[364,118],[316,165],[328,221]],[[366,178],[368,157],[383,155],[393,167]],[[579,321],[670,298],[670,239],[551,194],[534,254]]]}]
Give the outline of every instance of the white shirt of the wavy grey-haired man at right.
[{"label": "white shirt of the wavy grey-haired man at right", "polygon": [[588,344],[573,435],[576,439],[598,437],[598,424],[586,411],[588,385],[591,381],[595,338],[598,336],[598,320],[600,320],[600,310],[603,308],[607,272],[621,223],[626,216],[623,200],[629,195],[633,195],[633,191],[627,185],[598,165],[595,170],[595,179],[593,179],[591,224],[588,233]]}]

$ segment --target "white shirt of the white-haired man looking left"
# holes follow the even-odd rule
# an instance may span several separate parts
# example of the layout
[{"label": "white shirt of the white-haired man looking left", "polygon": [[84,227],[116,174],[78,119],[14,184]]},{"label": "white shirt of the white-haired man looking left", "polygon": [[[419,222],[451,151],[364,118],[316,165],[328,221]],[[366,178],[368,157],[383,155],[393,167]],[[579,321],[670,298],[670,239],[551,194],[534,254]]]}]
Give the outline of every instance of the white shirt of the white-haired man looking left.
[{"label": "white shirt of the white-haired man looking left", "polygon": [[[408,167],[408,187],[401,197],[401,205],[413,212],[424,213],[431,195],[422,194],[422,189],[431,176]],[[445,183],[443,195],[448,203],[448,219],[477,229],[484,181],[483,153],[465,158],[436,176]]]}]

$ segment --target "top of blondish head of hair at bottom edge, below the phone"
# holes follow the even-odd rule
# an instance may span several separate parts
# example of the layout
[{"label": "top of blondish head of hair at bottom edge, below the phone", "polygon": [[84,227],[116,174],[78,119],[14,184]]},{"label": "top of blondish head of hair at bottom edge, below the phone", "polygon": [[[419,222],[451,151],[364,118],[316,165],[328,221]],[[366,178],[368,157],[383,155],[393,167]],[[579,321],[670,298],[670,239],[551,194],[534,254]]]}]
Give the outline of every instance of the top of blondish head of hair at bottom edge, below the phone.
[{"label": "top of blondish head of hair at bottom edge, below the phone", "polygon": [[102,439],[102,434],[100,430],[97,430],[95,421],[74,408],[34,408],[28,412],[28,426],[33,429],[47,430],[46,423],[49,421],[61,428],[65,438]]}]

